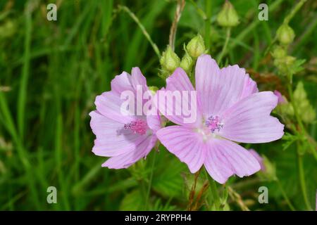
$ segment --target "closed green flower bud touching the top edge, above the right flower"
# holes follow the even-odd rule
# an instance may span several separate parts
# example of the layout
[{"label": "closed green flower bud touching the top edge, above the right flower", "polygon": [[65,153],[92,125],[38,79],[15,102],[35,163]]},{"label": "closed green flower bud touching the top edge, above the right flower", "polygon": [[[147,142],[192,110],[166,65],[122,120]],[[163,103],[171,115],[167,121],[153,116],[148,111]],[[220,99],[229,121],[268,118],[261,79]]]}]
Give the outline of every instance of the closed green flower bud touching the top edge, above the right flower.
[{"label": "closed green flower bud touching the top edge, above the right flower", "polygon": [[223,8],[217,15],[217,22],[222,27],[235,27],[239,24],[239,16],[230,1],[225,1]]}]

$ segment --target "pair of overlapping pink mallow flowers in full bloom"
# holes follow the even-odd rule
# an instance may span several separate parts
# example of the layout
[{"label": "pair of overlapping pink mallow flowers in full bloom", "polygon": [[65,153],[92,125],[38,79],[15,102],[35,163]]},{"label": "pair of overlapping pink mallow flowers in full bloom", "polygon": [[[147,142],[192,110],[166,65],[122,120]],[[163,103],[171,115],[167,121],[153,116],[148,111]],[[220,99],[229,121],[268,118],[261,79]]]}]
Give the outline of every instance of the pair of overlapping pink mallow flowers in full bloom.
[{"label": "pair of overlapping pink mallow flowers in full bloom", "polygon": [[[184,123],[182,115],[165,115],[176,125],[162,127],[161,117],[120,113],[122,91],[148,90],[139,68],[123,72],[111,82],[111,91],[97,96],[97,110],[90,126],[97,136],[92,151],[110,157],[103,167],[127,168],[144,158],[161,141],[170,153],[185,162],[190,172],[202,165],[210,176],[224,184],[230,176],[249,176],[261,169],[259,159],[236,142],[266,143],[280,139],[284,125],[272,117],[278,96],[259,92],[245,70],[237,65],[220,69],[209,55],[202,55],[195,68],[197,120]],[[194,91],[184,70],[177,68],[166,79],[163,91]],[[178,103],[175,103],[178,104]],[[166,105],[167,106],[167,105]]]}]

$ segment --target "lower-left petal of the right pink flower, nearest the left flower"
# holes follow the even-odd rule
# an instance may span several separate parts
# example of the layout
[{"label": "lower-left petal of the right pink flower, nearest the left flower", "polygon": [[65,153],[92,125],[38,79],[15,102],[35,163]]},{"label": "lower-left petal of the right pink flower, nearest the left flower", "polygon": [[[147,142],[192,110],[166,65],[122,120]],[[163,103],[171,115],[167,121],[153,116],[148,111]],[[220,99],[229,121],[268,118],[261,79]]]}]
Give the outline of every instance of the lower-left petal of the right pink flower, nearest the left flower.
[{"label": "lower-left petal of the right pink flower, nearest the left flower", "polygon": [[160,129],[156,133],[170,153],[176,155],[181,162],[185,162],[190,172],[197,172],[204,162],[205,145],[201,136],[192,128],[170,126]]}]

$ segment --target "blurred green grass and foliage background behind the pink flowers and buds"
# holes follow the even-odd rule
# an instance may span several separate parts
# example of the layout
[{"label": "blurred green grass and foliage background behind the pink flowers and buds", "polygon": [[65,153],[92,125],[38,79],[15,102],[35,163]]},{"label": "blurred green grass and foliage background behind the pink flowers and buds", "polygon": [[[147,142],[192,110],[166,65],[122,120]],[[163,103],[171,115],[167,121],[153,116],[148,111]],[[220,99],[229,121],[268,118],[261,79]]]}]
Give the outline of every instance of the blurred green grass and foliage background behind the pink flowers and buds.
[{"label": "blurred green grass and foliage background behind the pink flowers and buds", "polygon": [[[211,1],[208,9],[206,0],[186,2],[178,24],[176,53],[182,56],[182,45],[197,33],[210,40],[206,45],[211,56],[220,52],[225,30],[216,25],[216,15],[223,2]],[[232,1],[240,25],[232,29],[225,60],[247,68],[259,89],[278,89],[285,94],[284,84],[274,79],[272,58],[263,52],[294,2],[266,1],[268,21],[259,21],[262,1]],[[56,21],[46,20],[49,3],[58,7]],[[91,152],[94,135],[88,113],[94,110],[95,96],[110,89],[115,75],[138,66],[149,85],[164,85],[158,77],[156,53],[118,5],[128,6],[160,51],[166,49],[175,1],[0,1],[0,210],[187,209],[194,175],[166,149],[160,147],[156,155],[152,179],[154,152],[147,160],[120,170],[101,168],[106,159]],[[307,1],[290,23],[296,34],[290,53],[306,59],[304,70],[294,79],[304,82],[315,109],[316,8],[316,1]],[[207,38],[206,13],[211,16]],[[316,139],[316,122],[308,128]],[[282,150],[282,141],[245,147],[266,155],[275,164],[280,182],[263,181],[256,175],[232,177],[228,181],[230,209],[241,210],[241,198],[250,210],[289,210],[284,191],[297,210],[304,210],[294,144],[286,150]],[[309,154],[304,157],[304,174],[314,208],[317,168]],[[198,177],[197,193],[204,189],[205,180],[205,176]],[[57,204],[46,202],[49,186],[57,188]],[[258,202],[260,186],[268,186],[268,204]],[[147,203],[144,193],[149,193]],[[207,195],[204,190],[202,194]],[[204,201],[198,205],[204,210]]]}]

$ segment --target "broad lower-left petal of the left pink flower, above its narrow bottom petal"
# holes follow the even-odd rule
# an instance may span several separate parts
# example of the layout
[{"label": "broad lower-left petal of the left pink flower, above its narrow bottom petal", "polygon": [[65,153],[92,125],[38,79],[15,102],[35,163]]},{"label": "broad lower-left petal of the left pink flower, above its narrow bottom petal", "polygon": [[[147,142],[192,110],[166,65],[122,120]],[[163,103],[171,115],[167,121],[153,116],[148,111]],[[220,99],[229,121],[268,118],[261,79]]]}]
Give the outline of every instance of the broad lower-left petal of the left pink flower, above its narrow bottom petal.
[{"label": "broad lower-left petal of the left pink flower, above its narrow bottom petal", "polygon": [[[100,156],[116,156],[135,150],[146,136],[123,130],[124,124],[111,120],[97,111],[89,113],[90,127],[96,135],[92,152]],[[120,132],[120,134],[119,134]]]}]

